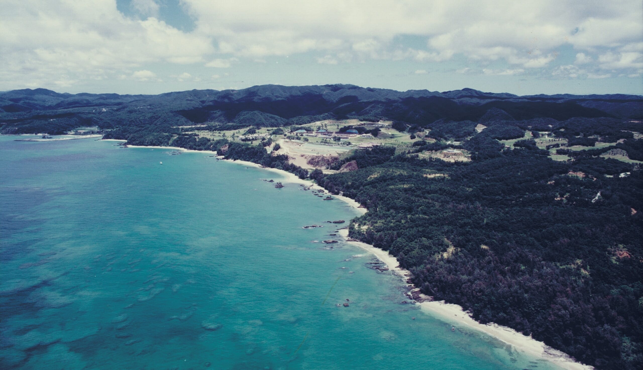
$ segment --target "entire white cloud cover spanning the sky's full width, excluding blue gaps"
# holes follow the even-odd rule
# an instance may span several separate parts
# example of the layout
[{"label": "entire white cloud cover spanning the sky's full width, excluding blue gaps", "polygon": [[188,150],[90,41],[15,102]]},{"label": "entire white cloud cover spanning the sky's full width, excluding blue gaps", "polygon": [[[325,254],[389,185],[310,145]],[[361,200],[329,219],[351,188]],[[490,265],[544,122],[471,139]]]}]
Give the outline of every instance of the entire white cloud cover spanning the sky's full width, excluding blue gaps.
[{"label": "entire white cloud cover spanning the sky's full width, excluding blue gaps", "polygon": [[[550,66],[557,53],[574,49],[574,64],[594,75],[638,75],[643,69],[640,0],[180,3],[194,19],[193,31],[158,19],[158,0],[131,1],[144,20],[125,17],[116,0],[4,0],[0,85],[131,78],[132,71],[156,63],[226,68],[241,58],[261,62],[297,53],[311,53],[308,60],[321,64],[464,58],[472,68],[467,73],[538,74],[556,68]],[[408,37],[424,46],[409,48]]]}]

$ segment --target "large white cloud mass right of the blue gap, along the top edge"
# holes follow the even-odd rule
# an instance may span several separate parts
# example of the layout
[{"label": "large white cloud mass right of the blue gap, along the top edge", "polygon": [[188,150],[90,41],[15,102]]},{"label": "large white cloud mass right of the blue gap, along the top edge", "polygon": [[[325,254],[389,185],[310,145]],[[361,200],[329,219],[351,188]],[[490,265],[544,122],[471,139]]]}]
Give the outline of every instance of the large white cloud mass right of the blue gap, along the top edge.
[{"label": "large white cloud mass right of the blue gap, along the top edge", "polygon": [[[638,41],[643,32],[638,0],[183,3],[197,19],[199,32],[217,40],[220,51],[237,56],[349,51],[361,55],[358,59],[402,56],[441,62],[462,54],[541,68],[561,46],[617,48]],[[426,37],[427,49],[391,51],[395,38],[403,35]]]}]

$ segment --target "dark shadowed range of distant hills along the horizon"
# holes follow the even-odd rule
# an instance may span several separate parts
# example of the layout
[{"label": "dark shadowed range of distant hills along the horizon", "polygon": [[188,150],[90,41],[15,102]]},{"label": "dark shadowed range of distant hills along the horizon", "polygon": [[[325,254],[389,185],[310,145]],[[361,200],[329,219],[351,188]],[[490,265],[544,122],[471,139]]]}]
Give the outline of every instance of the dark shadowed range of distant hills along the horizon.
[{"label": "dark shadowed range of distant hills along the horizon", "polygon": [[[159,121],[159,118],[163,117]],[[430,127],[494,119],[643,118],[643,96],[516,96],[474,89],[395,91],[356,85],[259,85],[158,95],[61,94],[48,89],[0,93],[0,132],[57,134],[78,125],[113,128],[158,123],[247,123],[270,127],[319,118],[380,118]]]}]

